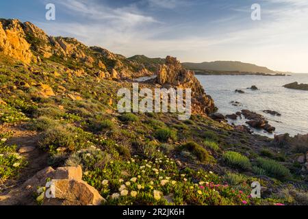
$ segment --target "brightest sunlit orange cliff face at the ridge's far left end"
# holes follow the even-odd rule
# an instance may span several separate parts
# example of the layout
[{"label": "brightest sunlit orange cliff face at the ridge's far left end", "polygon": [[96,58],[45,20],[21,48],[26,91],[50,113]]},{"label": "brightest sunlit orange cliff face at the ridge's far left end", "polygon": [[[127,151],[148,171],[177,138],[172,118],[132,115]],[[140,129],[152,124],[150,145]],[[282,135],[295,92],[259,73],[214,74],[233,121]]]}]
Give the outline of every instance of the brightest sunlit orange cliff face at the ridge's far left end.
[{"label": "brightest sunlit orange cliff face at the ridge's far left end", "polygon": [[22,23],[14,20],[0,20],[0,52],[26,64],[34,58],[30,44],[25,40]]}]

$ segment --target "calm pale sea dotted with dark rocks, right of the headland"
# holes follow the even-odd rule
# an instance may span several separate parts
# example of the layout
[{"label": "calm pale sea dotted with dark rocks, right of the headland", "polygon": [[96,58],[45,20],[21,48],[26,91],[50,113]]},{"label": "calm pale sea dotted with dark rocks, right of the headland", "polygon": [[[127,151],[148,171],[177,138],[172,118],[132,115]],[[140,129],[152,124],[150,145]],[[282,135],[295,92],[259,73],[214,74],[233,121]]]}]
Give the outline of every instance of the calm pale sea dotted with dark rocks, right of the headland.
[{"label": "calm pale sea dotted with dark rocks, right of the headland", "polygon": [[[273,137],[274,134],[289,133],[290,136],[308,133],[308,91],[292,90],[283,85],[297,81],[308,83],[308,74],[290,74],[290,76],[257,75],[196,75],[205,92],[210,95],[218,112],[235,114],[241,110],[251,110],[266,117],[269,124],[276,127],[274,133],[253,129],[254,133]],[[257,86],[259,90],[251,90]],[[236,89],[244,94],[235,92]],[[233,105],[231,101],[239,102]],[[274,110],[281,116],[266,114],[263,110]],[[244,125],[247,120],[228,119],[230,124]]]}]

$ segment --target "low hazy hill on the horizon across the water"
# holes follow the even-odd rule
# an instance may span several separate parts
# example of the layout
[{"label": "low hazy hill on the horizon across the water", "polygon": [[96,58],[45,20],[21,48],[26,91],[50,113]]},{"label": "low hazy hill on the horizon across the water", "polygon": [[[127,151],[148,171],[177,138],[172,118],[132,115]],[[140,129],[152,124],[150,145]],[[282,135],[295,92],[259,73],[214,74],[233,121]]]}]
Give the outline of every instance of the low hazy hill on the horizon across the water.
[{"label": "low hazy hill on the horizon across the water", "polygon": [[216,62],[202,62],[202,63],[184,62],[183,66],[190,70],[216,70],[216,71],[270,73],[270,74],[277,73],[274,70],[270,70],[266,67],[257,66],[255,64],[249,64],[243,62],[231,62],[231,61],[216,61]]}]

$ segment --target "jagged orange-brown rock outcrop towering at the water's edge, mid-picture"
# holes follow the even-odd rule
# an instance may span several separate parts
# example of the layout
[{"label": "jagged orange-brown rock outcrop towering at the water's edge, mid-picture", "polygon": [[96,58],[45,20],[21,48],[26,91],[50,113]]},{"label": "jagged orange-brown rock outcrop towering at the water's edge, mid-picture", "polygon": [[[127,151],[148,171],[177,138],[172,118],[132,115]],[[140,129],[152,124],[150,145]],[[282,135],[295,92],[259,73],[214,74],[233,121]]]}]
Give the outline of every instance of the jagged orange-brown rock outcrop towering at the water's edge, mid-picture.
[{"label": "jagged orange-brown rock outcrop towering at the water's edge, mid-picture", "polygon": [[160,67],[155,82],[167,88],[191,88],[192,113],[211,114],[216,111],[214,100],[205,94],[205,90],[194,76],[194,72],[183,68],[175,57],[166,57],[166,64]]}]

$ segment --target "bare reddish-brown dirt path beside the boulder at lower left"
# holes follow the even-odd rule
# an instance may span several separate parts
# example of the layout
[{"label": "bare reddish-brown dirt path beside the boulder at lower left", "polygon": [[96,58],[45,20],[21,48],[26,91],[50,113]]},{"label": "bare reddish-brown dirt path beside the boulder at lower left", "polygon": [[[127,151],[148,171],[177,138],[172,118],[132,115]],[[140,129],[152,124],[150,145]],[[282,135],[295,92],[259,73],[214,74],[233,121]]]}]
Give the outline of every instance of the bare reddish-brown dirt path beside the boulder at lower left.
[{"label": "bare reddish-brown dirt path beside the boulder at lower left", "polygon": [[13,132],[13,137],[8,140],[8,145],[17,146],[17,151],[21,147],[35,147],[34,151],[29,151],[28,153],[22,153],[21,156],[25,157],[27,160],[27,166],[21,170],[16,179],[10,179],[6,181],[3,185],[0,185],[0,196],[8,194],[16,190],[21,186],[27,179],[33,177],[36,172],[47,167],[47,153],[44,153],[38,149],[38,133],[36,131],[29,131],[23,128],[21,125],[0,125],[1,132]]}]

